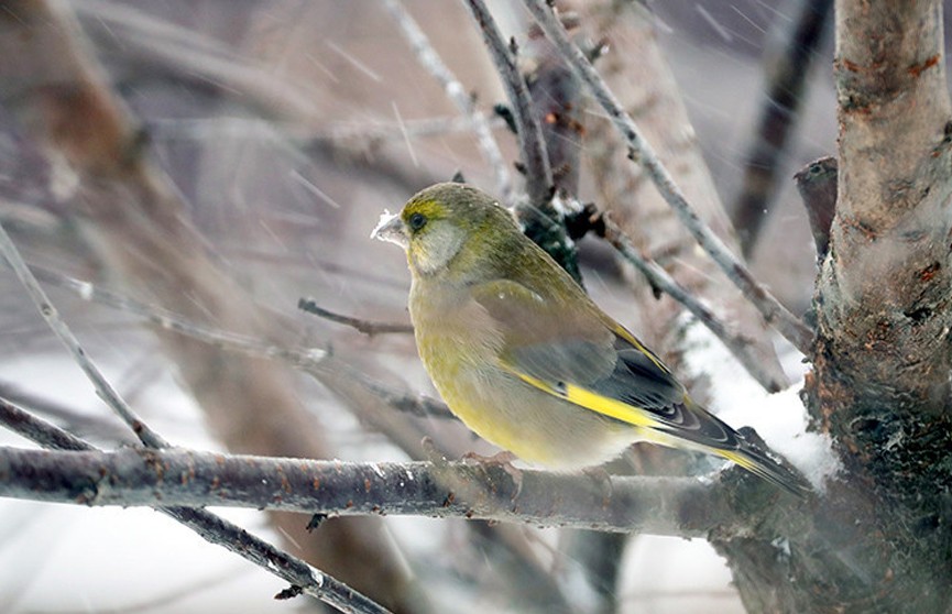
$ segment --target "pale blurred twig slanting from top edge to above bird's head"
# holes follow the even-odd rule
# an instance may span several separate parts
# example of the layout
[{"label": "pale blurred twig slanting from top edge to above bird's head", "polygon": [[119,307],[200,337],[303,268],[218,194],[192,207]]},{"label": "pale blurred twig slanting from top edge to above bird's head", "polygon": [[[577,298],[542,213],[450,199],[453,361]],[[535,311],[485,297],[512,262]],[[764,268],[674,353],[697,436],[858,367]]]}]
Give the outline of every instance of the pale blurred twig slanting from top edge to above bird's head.
[{"label": "pale blurred twig slanting from top edge to above bird's head", "polygon": [[382,1],[396,21],[407,42],[409,42],[420,65],[439,81],[447,97],[469,119],[472,130],[477,135],[477,144],[496,177],[496,188],[499,189],[500,198],[506,206],[513,206],[512,177],[506,168],[500,146],[490,130],[489,120],[475,108],[472,97],[466,92],[462,84],[442,62],[439,54],[429,43],[426,34],[424,34],[416,20],[407,12],[403,3],[400,0]]}]

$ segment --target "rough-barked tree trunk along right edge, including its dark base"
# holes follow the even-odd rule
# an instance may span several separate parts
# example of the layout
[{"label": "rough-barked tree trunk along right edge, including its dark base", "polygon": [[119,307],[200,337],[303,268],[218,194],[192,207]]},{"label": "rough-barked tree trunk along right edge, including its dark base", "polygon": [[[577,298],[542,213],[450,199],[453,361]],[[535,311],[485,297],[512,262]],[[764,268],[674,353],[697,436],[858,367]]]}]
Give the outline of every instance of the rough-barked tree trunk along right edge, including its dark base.
[{"label": "rough-barked tree trunk along right edge, including its dark base", "polygon": [[836,3],[839,195],[808,409],[846,473],[781,551],[712,541],[753,612],[946,612],[952,428],[941,2]]}]

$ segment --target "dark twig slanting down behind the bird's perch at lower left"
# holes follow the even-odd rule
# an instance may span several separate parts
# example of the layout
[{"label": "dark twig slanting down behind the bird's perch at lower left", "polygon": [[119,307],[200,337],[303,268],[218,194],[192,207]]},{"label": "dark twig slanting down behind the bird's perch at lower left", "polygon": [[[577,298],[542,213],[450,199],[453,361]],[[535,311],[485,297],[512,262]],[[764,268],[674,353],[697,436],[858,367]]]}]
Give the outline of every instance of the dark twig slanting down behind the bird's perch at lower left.
[{"label": "dark twig slanting down behind the bird's perch at lower left", "polygon": [[[68,451],[70,454],[83,452],[102,453],[85,440],[23,412],[3,398],[0,398],[0,423],[44,448],[58,451],[54,453],[63,453],[63,451]],[[158,503],[155,502],[155,505],[153,505],[155,509],[175,518],[205,540],[239,555],[241,558],[289,582],[293,588],[300,589],[300,592],[319,599],[341,612],[360,614],[384,614],[389,612],[385,607],[374,603],[339,580],[310,567],[300,559],[292,557],[210,512],[179,506],[162,506]]]}]

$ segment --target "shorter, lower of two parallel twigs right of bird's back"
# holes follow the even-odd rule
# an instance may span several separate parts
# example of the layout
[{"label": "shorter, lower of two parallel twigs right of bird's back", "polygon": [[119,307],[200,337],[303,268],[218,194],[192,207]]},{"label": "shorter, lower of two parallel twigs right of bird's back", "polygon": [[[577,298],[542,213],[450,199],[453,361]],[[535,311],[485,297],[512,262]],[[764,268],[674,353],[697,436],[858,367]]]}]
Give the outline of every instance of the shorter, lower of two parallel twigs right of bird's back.
[{"label": "shorter, lower of two parallel twigs right of bird's back", "polygon": [[647,259],[638,253],[632,240],[625,235],[624,231],[610,219],[602,218],[605,224],[605,240],[617,250],[625,260],[632,263],[652,285],[660,292],[680,303],[688,311],[691,313],[701,324],[708,327],[708,330],[714,333],[718,339],[730,350],[730,352],[744,365],[747,373],[759,383],[764,390],[770,393],[779,392],[785,387],[786,382],[778,382],[773,376],[768,369],[764,369],[764,363],[751,351],[751,342],[742,335],[730,330],[727,326],[721,321],[711,309],[694,297],[687,288],[681,286],[665,271],[657,262]]}]

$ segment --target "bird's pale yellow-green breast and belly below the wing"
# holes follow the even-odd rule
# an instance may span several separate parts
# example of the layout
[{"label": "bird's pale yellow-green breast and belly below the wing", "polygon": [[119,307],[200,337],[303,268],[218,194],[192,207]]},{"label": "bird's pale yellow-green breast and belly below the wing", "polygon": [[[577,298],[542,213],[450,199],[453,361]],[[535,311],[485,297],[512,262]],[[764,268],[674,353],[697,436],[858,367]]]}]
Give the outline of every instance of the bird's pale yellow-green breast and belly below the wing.
[{"label": "bird's pale yellow-green breast and belly below the wing", "polygon": [[417,350],[446,404],[471,430],[550,469],[601,464],[639,439],[638,429],[539,391],[499,366],[495,324],[463,292],[440,303],[414,281],[409,313]]}]

